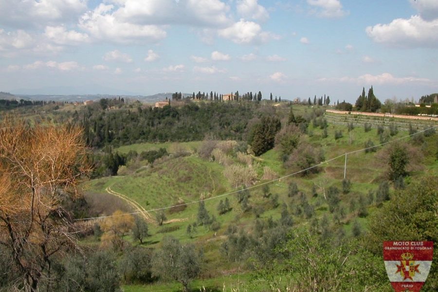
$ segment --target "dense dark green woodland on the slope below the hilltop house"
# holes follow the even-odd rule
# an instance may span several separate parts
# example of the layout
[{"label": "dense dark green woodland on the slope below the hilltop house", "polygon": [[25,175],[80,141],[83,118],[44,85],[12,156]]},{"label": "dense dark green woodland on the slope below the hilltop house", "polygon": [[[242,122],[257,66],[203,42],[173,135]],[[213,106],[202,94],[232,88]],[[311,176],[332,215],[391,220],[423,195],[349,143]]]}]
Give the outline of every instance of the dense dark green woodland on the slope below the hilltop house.
[{"label": "dense dark green woodland on the slope below the hilltop house", "polygon": [[249,107],[237,103],[116,110],[90,106],[73,115],[83,126],[89,146],[116,147],[138,142],[203,140],[207,135],[218,140],[245,140],[248,121],[255,115]]}]

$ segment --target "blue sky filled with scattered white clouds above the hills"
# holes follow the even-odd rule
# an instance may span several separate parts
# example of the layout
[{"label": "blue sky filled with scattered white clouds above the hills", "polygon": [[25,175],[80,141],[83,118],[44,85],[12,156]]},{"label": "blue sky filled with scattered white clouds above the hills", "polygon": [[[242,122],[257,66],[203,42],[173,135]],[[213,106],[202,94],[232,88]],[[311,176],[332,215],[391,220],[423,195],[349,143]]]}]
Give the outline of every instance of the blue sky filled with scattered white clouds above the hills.
[{"label": "blue sky filled with scattered white clouds above the hills", "polygon": [[0,91],[438,92],[438,0],[0,0]]}]

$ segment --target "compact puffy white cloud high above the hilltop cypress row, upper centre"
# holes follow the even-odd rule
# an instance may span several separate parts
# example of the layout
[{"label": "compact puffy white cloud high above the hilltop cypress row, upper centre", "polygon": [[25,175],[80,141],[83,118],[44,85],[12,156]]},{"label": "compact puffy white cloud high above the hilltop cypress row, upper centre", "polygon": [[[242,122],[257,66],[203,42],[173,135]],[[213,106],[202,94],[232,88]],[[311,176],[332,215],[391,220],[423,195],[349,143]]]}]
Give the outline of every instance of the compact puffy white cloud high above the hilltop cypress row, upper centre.
[{"label": "compact puffy white cloud high above the hilltop cypress row, upper centre", "polygon": [[220,29],[219,37],[230,39],[238,44],[265,43],[270,39],[279,37],[268,32],[263,32],[260,25],[253,21],[240,19],[230,27]]}]

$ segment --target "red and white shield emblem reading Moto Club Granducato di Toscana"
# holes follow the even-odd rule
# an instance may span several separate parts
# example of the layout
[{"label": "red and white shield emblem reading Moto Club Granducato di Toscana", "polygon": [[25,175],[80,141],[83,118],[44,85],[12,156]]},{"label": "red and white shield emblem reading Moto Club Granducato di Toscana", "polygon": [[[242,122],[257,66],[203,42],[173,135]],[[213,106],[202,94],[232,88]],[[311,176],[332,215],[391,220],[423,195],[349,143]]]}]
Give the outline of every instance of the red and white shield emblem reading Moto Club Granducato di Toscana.
[{"label": "red and white shield emblem reading Moto Club Granducato di Toscana", "polygon": [[383,260],[394,290],[420,292],[433,255],[433,241],[384,241]]}]

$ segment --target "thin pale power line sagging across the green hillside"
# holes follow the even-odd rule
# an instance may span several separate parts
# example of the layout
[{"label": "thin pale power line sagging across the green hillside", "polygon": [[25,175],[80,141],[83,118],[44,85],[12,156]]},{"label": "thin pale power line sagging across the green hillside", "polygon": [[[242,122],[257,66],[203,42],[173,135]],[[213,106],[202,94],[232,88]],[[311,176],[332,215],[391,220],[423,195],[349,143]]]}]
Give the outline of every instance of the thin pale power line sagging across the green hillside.
[{"label": "thin pale power line sagging across the green hillside", "polygon": [[259,184],[256,184],[256,185],[253,185],[253,186],[249,186],[249,187],[246,187],[246,188],[243,188],[243,189],[240,189],[240,190],[236,190],[236,191],[232,191],[232,192],[229,192],[229,193],[221,194],[221,195],[218,195],[218,196],[214,196],[214,197],[206,198],[206,199],[203,199],[203,200],[191,201],[191,202],[187,202],[187,203],[181,203],[181,204],[173,205],[173,206],[167,206],[167,207],[155,208],[155,209],[150,209],[150,210],[146,210],[146,211],[137,211],[137,212],[125,213],[125,214],[121,214],[121,215],[107,215],[107,216],[90,217],[90,218],[82,218],[82,219],[74,219],[74,220],[75,220],[75,221],[86,221],[86,220],[93,220],[93,219],[105,219],[105,218],[110,218],[110,217],[119,217],[119,216],[125,216],[125,215],[136,215],[136,214],[147,213],[147,212],[156,212],[156,211],[167,210],[167,209],[174,208],[174,207],[187,206],[187,205],[191,205],[191,204],[199,203],[199,202],[201,202],[201,201],[209,201],[209,200],[213,200],[213,199],[218,199],[218,198],[221,198],[221,197],[225,197],[225,196],[229,196],[229,195],[237,194],[237,193],[242,192],[242,191],[245,191],[245,190],[250,190],[250,189],[253,189],[253,188],[259,187],[259,186],[261,186],[261,185],[265,185],[265,184],[268,184],[268,183],[273,183],[273,182],[276,182],[276,181],[280,181],[280,180],[282,180],[282,179],[285,179],[285,178],[288,178],[288,177],[294,176],[294,175],[296,175],[296,174],[299,174],[299,173],[301,173],[301,172],[305,172],[305,171],[310,170],[310,169],[312,169],[312,168],[318,167],[318,166],[320,166],[320,165],[322,165],[322,164],[327,164],[327,163],[329,163],[330,161],[333,161],[333,160],[336,160],[336,159],[338,159],[338,158],[344,157],[344,156],[346,156],[347,154],[352,154],[352,153],[356,153],[356,152],[364,151],[364,150],[366,150],[366,149],[370,149],[370,148],[374,148],[374,147],[383,146],[383,145],[386,145],[386,144],[389,144],[389,143],[393,143],[393,142],[396,142],[396,141],[399,141],[399,140],[402,140],[402,139],[409,138],[409,137],[414,136],[414,135],[416,135],[416,134],[419,134],[419,133],[421,133],[421,132],[424,132],[424,131],[427,131],[427,130],[430,130],[430,129],[433,129],[433,128],[437,128],[437,127],[438,127],[438,126],[434,126],[434,127],[431,127],[431,128],[426,128],[426,129],[421,130],[421,131],[418,131],[418,132],[416,132],[416,133],[414,133],[414,134],[410,134],[410,135],[407,135],[407,136],[404,136],[404,137],[401,137],[401,138],[398,138],[398,139],[394,139],[394,140],[391,140],[391,141],[388,141],[388,142],[385,142],[385,143],[382,143],[382,144],[379,144],[379,145],[376,145],[376,146],[371,146],[371,147],[366,147],[366,148],[359,149],[359,150],[355,150],[355,151],[351,151],[351,152],[346,152],[346,153],[341,154],[341,155],[339,155],[339,156],[337,156],[337,157],[334,157],[334,158],[331,158],[331,159],[329,159],[329,160],[323,161],[323,162],[321,162],[321,163],[319,163],[319,164],[312,165],[312,166],[310,166],[310,167],[308,167],[308,168],[306,168],[306,169],[302,169],[302,170],[299,170],[299,171],[297,171],[297,172],[294,172],[294,173],[291,173],[291,174],[288,174],[288,175],[282,176],[282,177],[280,177],[280,178],[278,178],[278,179],[274,179],[274,180],[271,180],[271,181],[268,181],[268,182],[264,182],[264,183],[259,183]]}]

